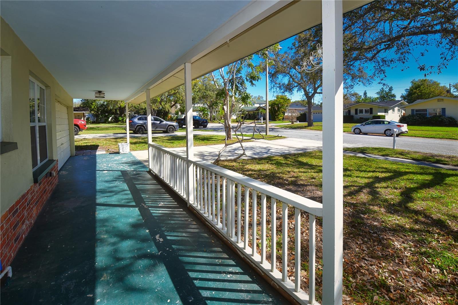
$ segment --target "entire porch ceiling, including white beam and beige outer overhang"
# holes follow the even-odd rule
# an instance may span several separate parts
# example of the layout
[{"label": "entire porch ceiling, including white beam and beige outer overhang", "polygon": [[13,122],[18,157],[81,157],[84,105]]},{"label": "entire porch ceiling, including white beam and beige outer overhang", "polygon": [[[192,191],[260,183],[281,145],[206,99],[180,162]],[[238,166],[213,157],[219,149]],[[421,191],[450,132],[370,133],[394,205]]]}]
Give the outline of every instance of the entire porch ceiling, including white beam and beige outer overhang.
[{"label": "entire porch ceiling, including white beam and beige outer overhang", "polygon": [[[368,0],[344,0],[344,12]],[[145,101],[321,23],[321,1],[1,1],[73,98]],[[228,43],[229,40],[229,43]]]}]

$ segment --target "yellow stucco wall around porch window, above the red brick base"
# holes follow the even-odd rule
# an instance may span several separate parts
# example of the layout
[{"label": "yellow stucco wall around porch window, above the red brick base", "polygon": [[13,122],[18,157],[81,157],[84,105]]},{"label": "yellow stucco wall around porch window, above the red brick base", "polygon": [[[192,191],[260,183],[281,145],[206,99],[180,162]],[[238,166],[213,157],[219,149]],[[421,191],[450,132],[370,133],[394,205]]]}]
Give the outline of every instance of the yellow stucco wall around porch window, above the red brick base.
[{"label": "yellow stucco wall around porch window, above the red brick base", "polygon": [[[31,29],[33,30],[33,29]],[[57,159],[55,101],[68,107],[71,154],[75,154],[73,99],[40,63],[11,27],[1,18],[2,63],[1,124],[3,141],[17,142],[17,149],[0,155],[0,214],[33,185],[29,124],[29,76],[46,87],[46,118],[49,159]],[[5,59],[5,60],[4,60]],[[8,64],[11,63],[11,70]],[[7,75],[11,71],[10,75]],[[7,77],[3,77],[7,76]],[[6,79],[4,82],[3,79]],[[11,81],[10,81],[11,79]],[[5,92],[4,89],[5,88]],[[10,92],[8,92],[10,88]]]}]

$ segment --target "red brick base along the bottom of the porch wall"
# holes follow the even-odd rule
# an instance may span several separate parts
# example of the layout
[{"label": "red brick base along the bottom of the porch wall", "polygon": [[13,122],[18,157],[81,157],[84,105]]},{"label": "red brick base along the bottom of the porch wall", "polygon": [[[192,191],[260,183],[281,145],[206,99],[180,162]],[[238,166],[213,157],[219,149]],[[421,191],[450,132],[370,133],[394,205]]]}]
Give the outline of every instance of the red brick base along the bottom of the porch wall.
[{"label": "red brick base along the bottom of the porch wall", "polygon": [[51,169],[54,177],[45,177],[34,183],[1,216],[0,259],[2,267],[9,266],[37,216],[57,185],[57,163]]}]

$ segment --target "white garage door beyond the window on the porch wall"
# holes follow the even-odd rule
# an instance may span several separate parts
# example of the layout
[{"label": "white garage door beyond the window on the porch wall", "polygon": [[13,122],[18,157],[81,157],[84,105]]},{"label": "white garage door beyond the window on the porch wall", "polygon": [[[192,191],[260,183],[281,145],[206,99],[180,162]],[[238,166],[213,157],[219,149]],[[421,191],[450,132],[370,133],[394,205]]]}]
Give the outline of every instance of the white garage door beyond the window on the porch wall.
[{"label": "white garage door beyond the window on the porch wall", "polygon": [[59,169],[70,157],[70,134],[68,132],[67,107],[56,102],[56,139]]}]

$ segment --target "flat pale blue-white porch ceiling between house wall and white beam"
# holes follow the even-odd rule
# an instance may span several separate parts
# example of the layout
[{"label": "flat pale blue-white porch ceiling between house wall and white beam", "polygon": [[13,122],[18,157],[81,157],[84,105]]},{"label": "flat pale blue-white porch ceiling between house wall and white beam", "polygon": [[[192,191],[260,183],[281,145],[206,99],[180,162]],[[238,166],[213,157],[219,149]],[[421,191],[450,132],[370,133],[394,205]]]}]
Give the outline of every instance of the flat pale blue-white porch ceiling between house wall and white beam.
[{"label": "flat pale blue-white porch ceiling between house wall and white beam", "polygon": [[125,99],[250,5],[2,0],[0,14],[73,98]]}]

